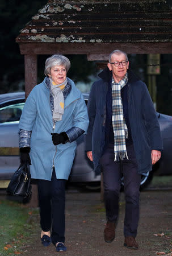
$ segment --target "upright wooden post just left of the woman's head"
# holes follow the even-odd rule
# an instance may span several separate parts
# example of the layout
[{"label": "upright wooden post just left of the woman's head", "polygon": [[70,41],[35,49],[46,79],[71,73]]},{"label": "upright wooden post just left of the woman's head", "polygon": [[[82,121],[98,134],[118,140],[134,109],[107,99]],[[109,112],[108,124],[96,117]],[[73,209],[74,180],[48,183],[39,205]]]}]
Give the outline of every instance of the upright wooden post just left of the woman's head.
[{"label": "upright wooden post just left of the woman's head", "polygon": [[25,96],[28,97],[32,88],[37,84],[37,55],[24,55]]}]

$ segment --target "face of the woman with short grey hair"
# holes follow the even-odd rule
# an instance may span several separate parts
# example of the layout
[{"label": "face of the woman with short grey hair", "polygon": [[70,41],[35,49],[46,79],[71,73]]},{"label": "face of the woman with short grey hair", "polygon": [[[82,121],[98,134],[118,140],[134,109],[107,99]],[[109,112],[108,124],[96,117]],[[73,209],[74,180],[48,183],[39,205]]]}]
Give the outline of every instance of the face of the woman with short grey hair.
[{"label": "face of the woman with short grey hair", "polygon": [[51,68],[49,77],[51,77],[54,84],[62,84],[66,80],[66,73],[64,65],[56,65]]}]

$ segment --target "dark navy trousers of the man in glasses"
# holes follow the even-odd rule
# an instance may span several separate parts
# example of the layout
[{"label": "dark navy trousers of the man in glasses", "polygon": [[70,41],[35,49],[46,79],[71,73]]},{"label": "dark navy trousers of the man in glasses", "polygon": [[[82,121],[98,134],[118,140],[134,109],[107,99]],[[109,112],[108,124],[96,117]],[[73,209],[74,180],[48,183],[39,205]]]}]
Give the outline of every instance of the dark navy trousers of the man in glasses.
[{"label": "dark navy trousers of the man in glasses", "polygon": [[104,203],[108,221],[117,222],[121,174],[124,177],[125,220],[124,236],[137,235],[139,222],[139,196],[141,175],[137,173],[137,160],[133,145],[127,146],[129,160],[114,162],[114,145],[109,144],[100,159],[104,182]]}]

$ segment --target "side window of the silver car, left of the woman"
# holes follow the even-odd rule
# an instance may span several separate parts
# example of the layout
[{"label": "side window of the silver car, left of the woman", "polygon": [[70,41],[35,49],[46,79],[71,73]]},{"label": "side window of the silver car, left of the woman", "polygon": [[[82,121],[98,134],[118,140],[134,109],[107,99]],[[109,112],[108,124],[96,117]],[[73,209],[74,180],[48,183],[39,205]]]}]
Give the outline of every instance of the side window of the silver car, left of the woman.
[{"label": "side window of the silver car, left of the woman", "polygon": [[0,108],[0,123],[19,121],[24,102]]}]

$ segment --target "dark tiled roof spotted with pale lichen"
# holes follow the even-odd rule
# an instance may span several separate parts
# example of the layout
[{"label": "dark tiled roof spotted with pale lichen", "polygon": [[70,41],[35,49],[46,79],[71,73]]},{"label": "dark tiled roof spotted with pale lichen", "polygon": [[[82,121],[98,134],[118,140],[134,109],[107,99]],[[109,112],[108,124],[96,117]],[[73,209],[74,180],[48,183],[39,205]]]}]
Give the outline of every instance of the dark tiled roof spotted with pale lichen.
[{"label": "dark tiled roof spotted with pale lichen", "polygon": [[165,0],[49,0],[16,42],[172,42],[172,9]]}]

